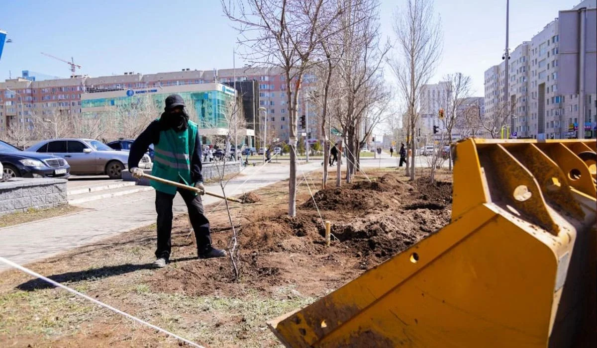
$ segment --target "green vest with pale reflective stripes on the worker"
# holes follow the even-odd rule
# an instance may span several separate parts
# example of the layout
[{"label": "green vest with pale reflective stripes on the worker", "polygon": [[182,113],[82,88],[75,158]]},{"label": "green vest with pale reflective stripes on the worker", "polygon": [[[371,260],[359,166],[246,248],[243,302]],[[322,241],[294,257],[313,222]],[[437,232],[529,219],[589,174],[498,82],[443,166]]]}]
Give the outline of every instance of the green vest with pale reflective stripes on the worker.
[{"label": "green vest with pale reflective stripes on the worker", "polygon": [[[170,181],[192,186],[190,159],[195,150],[197,124],[189,121],[186,131],[177,133],[174,130],[160,131],[159,143],[155,144],[152,175]],[[176,194],[176,187],[151,180],[151,186],[164,193]]]}]

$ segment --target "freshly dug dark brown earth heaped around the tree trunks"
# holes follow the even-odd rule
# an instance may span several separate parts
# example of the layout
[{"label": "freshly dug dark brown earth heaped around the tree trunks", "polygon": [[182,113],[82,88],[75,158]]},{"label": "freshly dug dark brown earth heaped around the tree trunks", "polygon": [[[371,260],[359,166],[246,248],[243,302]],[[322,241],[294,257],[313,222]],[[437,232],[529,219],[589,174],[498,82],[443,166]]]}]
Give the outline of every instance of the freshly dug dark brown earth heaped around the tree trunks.
[{"label": "freshly dug dark brown earth heaped around the tree trunks", "polygon": [[[238,227],[240,281],[235,281],[228,258],[193,260],[153,275],[153,287],[192,295],[247,289],[279,295],[275,289],[295,284],[303,294],[321,295],[450,222],[451,183],[431,184],[427,178],[408,182],[398,173],[373,179],[320,190],[315,199],[303,193],[296,217],[288,217],[287,206],[276,201],[279,196],[245,206],[250,211]],[[323,237],[327,220],[331,247]],[[226,248],[230,230],[214,226],[213,239]]]}]

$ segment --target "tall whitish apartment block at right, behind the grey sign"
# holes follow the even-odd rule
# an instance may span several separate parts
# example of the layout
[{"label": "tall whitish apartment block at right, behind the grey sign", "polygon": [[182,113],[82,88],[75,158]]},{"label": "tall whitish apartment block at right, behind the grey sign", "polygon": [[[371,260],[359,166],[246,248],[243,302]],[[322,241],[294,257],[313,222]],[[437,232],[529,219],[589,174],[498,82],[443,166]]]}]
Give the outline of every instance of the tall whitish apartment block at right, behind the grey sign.
[{"label": "tall whitish apartment block at right, behind the grey sign", "polygon": [[[595,0],[586,0],[573,8],[576,14],[580,8],[592,7],[587,14],[586,28],[591,35],[586,36],[589,44],[586,52],[595,57]],[[562,12],[560,11],[560,16]],[[510,131],[510,137],[518,138],[573,138],[579,127],[578,89],[562,93],[560,64],[562,54],[559,51],[561,31],[564,30],[566,42],[574,46],[579,41],[578,30],[567,25],[562,28],[559,17],[548,23],[531,38],[522,42],[510,53],[508,75],[509,103],[512,107],[510,124],[504,125]],[[591,31],[592,30],[592,31]],[[575,31],[575,32],[573,32]],[[578,48],[578,47],[577,47]],[[591,51],[592,50],[592,51]],[[578,49],[577,49],[578,53]],[[505,58],[505,57],[504,57]],[[593,60],[594,61],[594,60]],[[595,81],[594,63],[592,69],[584,69],[587,81]],[[589,65],[587,64],[587,67]],[[566,64],[565,76],[578,76],[578,68]],[[487,116],[506,115],[504,98],[505,60],[485,70],[485,112]],[[594,84],[593,84],[594,86]],[[595,88],[589,88],[586,94],[584,121],[586,137],[595,137]],[[592,103],[593,101],[593,103]],[[581,121],[580,121],[581,122]]]}]

